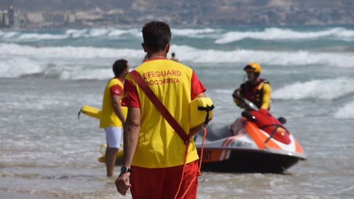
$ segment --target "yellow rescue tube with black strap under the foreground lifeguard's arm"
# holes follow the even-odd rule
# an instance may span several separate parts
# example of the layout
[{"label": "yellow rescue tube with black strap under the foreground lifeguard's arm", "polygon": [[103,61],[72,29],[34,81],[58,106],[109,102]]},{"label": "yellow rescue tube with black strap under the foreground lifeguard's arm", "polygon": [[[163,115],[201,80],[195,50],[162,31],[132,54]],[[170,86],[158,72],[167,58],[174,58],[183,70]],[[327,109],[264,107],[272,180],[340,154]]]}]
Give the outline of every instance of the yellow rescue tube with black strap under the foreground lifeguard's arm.
[{"label": "yellow rescue tube with black strap under the foreground lifeguard's arm", "polygon": [[198,97],[189,103],[189,126],[190,129],[204,123],[209,110],[209,120],[213,115],[213,101],[210,97]]}]

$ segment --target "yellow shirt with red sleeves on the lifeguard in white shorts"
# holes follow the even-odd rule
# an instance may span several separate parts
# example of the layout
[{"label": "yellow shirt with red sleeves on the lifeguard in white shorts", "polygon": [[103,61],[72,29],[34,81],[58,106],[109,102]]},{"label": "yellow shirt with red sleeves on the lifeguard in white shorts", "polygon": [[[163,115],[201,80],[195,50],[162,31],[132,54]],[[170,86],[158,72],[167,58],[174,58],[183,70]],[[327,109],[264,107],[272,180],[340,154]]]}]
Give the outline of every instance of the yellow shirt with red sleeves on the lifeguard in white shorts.
[{"label": "yellow shirt with red sleeves on the lifeguard in white shorts", "polygon": [[120,121],[118,116],[115,114],[112,106],[112,96],[122,96],[122,93],[123,81],[117,77],[110,79],[103,93],[102,113],[101,119],[99,120],[100,128],[105,128],[108,126],[122,127],[122,121]]}]

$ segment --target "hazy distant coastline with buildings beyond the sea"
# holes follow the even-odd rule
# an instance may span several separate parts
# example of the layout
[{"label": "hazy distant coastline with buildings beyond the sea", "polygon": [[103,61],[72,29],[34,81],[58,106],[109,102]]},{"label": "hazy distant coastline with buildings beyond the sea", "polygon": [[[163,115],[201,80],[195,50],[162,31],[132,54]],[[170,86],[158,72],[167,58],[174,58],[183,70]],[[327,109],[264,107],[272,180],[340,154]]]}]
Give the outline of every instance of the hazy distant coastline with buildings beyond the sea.
[{"label": "hazy distant coastline with buildings beyond the sea", "polygon": [[[18,1],[14,5],[0,2],[6,15],[13,7],[17,28],[136,28],[152,20],[169,23],[176,28],[224,27],[296,27],[314,25],[354,25],[354,2],[288,1],[288,0],[219,0],[214,3],[195,0],[179,2],[75,2]],[[154,3],[155,2],[155,3]],[[0,16],[0,18],[2,15]],[[0,20],[9,28],[11,20]]]}]

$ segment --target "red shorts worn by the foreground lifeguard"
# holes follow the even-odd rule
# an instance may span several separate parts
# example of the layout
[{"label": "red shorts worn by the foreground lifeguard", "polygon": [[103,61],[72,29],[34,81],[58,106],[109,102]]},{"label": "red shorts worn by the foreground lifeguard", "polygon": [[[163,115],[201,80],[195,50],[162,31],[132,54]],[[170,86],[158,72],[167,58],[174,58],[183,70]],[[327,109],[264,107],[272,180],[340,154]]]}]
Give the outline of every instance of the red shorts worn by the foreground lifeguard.
[{"label": "red shorts worn by the foreground lifeguard", "polygon": [[[181,181],[183,165],[167,168],[148,169],[131,166],[130,192],[133,199],[174,199]],[[180,199],[193,180],[183,199],[195,199],[197,195],[198,162],[185,165],[181,189],[177,198]]]}]

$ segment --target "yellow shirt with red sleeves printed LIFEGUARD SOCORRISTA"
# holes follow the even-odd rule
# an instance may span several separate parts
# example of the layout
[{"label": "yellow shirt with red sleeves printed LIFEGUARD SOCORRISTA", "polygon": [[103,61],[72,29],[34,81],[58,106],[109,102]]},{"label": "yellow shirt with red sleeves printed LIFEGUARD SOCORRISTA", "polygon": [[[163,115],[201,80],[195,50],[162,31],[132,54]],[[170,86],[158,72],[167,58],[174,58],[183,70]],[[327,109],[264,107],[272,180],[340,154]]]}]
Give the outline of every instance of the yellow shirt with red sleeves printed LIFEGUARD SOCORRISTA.
[{"label": "yellow shirt with red sleeves printed LIFEGUARD SOCORRISTA", "polygon": [[[206,90],[194,71],[165,58],[149,59],[135,70],[188,134],[189,103]],[[185,156],[182,139],[129,74],[122,98],[122,106],[141,110],[141,127],[132,165],[145,168],[182,165]],[[197,159],[195,143],[191,139],[186,163]]]}]

